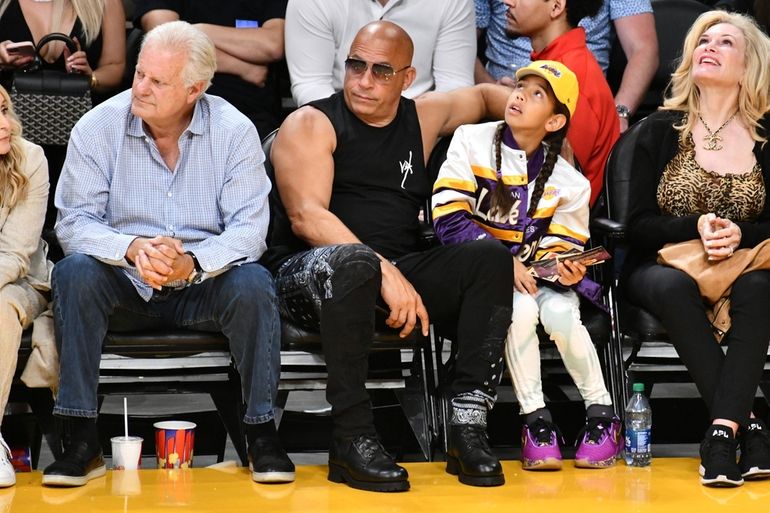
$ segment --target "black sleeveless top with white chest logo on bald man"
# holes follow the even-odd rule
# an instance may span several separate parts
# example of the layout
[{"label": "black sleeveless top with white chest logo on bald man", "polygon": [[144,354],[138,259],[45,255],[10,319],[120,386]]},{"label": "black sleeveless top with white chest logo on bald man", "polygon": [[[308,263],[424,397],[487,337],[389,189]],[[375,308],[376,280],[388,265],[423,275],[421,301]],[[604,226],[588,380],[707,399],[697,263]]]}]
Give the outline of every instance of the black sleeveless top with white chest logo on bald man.
[{"label": "black sleeveless top with white chest logo on bald man", "polygon": [[[420,234],[418,214],[433,184],[425,169],[414,101],[401,98],[396,117],[384,127],[358,119],[342,92],[309,105],[329,118],[337,136],[329,210],[385,258],[415,251]],[[272,265],[268,266],[273,268],[279,253],[284,260],[287,253],[307,249],[305,244],[297,244],[281,212],[273,218],[270,246]]]}]

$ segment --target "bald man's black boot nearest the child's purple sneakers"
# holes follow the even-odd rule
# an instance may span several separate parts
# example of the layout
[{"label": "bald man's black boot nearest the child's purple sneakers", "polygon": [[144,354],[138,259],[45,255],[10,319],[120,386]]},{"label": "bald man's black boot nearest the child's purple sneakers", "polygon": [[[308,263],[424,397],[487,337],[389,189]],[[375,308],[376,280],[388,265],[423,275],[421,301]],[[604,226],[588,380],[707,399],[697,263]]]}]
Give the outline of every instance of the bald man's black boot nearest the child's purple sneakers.
[{"label": "bald man's black boot nearest the child's purple sneakers", "polygon": [[452,425],[446,471],[471,486],[500,486],[503,467],[489,448],[486,430],[475,424]]}]

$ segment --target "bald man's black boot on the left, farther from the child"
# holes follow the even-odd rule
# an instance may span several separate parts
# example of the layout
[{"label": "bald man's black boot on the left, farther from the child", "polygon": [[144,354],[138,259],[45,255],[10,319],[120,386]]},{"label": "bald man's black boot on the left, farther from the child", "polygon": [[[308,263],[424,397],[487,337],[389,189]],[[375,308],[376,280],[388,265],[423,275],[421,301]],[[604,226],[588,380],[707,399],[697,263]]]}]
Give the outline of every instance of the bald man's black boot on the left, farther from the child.
[{"label": "bald man's black boot on the left, farther from the child", "polygon": [[335,438],[329,450],[329,481],[371,492],[404,492],[409,474],[375,435]]}]

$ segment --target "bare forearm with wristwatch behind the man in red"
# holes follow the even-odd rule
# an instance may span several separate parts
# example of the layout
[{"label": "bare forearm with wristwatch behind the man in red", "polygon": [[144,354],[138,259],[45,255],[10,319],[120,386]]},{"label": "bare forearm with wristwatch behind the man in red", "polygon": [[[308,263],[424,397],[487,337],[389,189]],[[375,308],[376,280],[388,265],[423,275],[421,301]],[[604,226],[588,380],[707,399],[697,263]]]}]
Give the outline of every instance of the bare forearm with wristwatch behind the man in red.
[{"label": "bare forearm with wristwatch behind the man in red", "polygon": [[615,103],[635,112],[658,69],[658,39],[652,13],[641,13],[614,21],[628,64],[623,71]]}]

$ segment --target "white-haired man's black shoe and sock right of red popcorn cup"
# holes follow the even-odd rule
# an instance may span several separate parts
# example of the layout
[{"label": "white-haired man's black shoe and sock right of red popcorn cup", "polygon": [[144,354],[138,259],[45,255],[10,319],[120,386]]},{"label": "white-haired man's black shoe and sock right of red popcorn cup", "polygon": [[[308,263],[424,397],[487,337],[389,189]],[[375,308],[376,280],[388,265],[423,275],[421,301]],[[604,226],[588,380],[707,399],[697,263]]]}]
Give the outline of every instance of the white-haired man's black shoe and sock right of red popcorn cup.
[{"label": "white-haired man's black shoe and sock right of red popcorn cup", "polygon": [[257,483],[294,481],[294,463],[281,444],[274,421],[247,424],[246,439],[249,443],[249,469],[252,480]]}]

